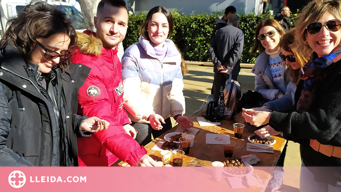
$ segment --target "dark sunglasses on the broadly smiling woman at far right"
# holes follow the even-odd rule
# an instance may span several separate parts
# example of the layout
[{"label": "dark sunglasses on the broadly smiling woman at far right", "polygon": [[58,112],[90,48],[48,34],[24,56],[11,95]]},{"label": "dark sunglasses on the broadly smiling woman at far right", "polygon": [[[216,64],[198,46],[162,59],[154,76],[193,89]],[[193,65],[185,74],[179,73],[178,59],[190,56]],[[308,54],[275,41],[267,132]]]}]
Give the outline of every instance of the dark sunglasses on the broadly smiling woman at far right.
[{"label": "dark sunglasses on the broadly smiling woman at far right", "polygon": [[326,28],[330,31],[336,32],[336,31],[339,31],[341,28],[341,20],[332,19],[332,20],[324,21],[324,22],[313,22],[313,23],[310,23],[306,27],[306,29],[309,34],[314,35],[320,32],[323,26],[326,26]]}]

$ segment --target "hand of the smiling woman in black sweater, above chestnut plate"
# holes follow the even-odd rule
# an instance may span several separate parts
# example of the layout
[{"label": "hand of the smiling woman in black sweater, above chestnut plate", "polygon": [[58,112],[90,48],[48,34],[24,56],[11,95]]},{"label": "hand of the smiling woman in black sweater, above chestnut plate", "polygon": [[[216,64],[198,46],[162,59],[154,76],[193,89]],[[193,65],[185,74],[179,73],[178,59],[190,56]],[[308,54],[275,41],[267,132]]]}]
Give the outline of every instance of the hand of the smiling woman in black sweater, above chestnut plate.
[{"label": "hand of the smiling woman in black sweater, above chestnut plate", "polygon": [[264,108],[243,108],[242,116],[244,117],[246,122],[259,127],[269,123],[271,114],[272,113],[268,109]]}]

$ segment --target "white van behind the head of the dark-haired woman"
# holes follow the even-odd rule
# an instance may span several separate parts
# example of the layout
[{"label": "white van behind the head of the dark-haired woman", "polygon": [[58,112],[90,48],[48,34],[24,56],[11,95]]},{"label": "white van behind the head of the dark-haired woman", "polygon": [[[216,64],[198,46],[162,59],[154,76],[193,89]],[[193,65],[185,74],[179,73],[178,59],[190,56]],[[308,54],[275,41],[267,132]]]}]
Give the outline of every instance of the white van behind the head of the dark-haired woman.
[{"label": "white van behind the head of the dark-haired woman", "polygon": [[[30,2],[31,0],[0,0],[0,38],[6,29],[8,19],[16,16]],[[63,10],[68,18],[73,20],[72,25],[77,31],[85,30],[83,16],[74,6],[62,1],[47,0],[47,2]]]}]

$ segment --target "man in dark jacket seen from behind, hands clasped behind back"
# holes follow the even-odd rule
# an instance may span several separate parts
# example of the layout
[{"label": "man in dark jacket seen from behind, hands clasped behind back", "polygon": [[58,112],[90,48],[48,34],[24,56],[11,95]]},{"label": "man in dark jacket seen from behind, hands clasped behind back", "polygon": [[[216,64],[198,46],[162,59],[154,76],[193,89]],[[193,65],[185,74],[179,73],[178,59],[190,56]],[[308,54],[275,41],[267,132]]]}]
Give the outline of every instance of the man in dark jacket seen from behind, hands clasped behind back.
[{"label": "man in dark jacket seen from behind, hands clasped behind back", "polygon": [[240,71],[240,56],[243,52],[244,33],[238,29],[239,16],[230,14],[227,25],[218,29],[209,46],[209,56],[214,64],[213,96],[217,107],[219,89],[229,75],[237,80]]}]

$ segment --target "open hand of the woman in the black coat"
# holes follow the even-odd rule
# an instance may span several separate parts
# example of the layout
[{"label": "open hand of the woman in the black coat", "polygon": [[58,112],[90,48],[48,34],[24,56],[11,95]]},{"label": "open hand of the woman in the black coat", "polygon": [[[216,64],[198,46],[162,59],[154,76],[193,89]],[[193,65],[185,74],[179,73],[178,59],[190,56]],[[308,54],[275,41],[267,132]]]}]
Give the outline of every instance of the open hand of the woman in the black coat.
[{"label": "open hand of the woman in the black coat", "polygon": [[101,120],[98,117],[91,117],[85,119],[79,127],[81,131],[88,131],[88,132],[98,132],[109,127],[109,122],[105,120]]}]

